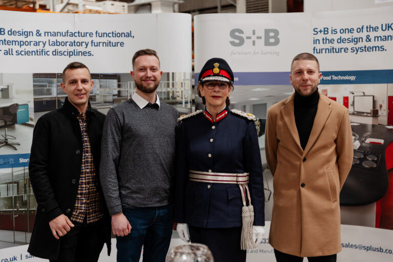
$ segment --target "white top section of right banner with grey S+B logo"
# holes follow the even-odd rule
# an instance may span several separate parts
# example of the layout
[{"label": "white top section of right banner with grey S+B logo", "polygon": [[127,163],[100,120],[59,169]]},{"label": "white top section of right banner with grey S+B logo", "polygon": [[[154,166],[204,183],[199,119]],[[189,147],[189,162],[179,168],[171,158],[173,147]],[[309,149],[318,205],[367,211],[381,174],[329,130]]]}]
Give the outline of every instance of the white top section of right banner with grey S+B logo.
[{"label": "white top section of right banner with grey S+B logo", "polygon": [[[336,72],[337,75],[341,71],[355,71],[351,74],[362,74],[361,71],[373,70],[367,72],[369,76],[391,83],[392,13],[393,7],[315,13],[197,15],[194,17],[195,72],[199,73],[209,58],[222,57],[238,78],[235,84],[287,84],[291,59],[309,52],[319,59],[322,73]],[[269,74],[269,77],[251,74],[255,72]],[[246,78],[252,80],[244,80],[242,73],[250,73]],[[280,79],[282,74],[287,74],[285,81]],[[253,81],[257,78],[259,81]],[[348,79],[322,80],[329,80],[323,82],[325,84],[341,84]],[[366,82],[369,81],[354,83]]]}]

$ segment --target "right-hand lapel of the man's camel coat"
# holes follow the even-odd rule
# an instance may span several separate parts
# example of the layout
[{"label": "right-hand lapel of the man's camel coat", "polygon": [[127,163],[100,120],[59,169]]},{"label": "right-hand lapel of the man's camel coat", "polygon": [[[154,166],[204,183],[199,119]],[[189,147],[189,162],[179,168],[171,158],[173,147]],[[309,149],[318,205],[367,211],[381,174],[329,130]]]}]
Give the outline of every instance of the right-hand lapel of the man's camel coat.
[{"label": "right-hand lapel of the man's camel coat", "polygon": [[328,117],[332,112],[332,106],[330,105],[330,103],[331,103],[330,99],[323,96],[319,92],[317,114],[315,115],[313,128],[311,129],[309,141],[307,141],[307,145],[304,148],[303,156],[307,155],[307,153],[310,151],[310,148],[314,145],[319,134],[321,133],[322,128],[326,123],[326,120],[328,120]]}]

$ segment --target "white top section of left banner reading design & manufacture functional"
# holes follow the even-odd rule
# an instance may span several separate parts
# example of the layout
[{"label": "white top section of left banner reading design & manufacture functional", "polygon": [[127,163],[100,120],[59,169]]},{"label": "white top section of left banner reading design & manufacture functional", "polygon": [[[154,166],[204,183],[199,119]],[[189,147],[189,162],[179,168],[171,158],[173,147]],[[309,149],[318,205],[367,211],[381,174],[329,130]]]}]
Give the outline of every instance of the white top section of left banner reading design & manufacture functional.
[{"label": "white top section of left banner reading design & manufacture functional", "polygon": [[[116,26],[114,26],[116,25]],[[179,33],[181,32],[181,33]],[[189,14],[51,14],[0,11],[0,73],[129,73],[137,50],[157,51],[164,72],[191,73]]]}]

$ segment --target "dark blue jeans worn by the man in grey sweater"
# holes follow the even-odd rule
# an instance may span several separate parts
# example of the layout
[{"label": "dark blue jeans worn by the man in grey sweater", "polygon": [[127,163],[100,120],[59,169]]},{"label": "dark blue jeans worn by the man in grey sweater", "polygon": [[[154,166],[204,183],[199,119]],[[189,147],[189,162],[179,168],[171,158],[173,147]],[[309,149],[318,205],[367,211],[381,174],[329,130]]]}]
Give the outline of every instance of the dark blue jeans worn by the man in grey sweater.
[{"label": "dark blue jeans worn by the man in grey sweater", "polygon": [[173,205],[124,208],[132,226],[131,233],[116,236],[117,261],[139,262],[143,245],[143,262],[164,262],[172,235]]}]

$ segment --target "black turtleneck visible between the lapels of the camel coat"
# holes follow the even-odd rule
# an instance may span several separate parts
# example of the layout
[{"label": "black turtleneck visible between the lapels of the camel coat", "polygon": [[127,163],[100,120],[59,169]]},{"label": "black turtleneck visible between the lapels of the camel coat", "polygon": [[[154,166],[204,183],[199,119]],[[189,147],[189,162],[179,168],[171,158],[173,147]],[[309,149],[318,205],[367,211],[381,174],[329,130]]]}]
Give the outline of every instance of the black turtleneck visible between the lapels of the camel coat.
[{"label": "black turtleneck visible between the lapels of the camel coat", "polygon": [[309,141],[314,118],[317,114],[319,101],[318,88],[310,96],[301,96],[295,92],[294,112],[297,133],[299,134],[301,148],[305,148]]}]

